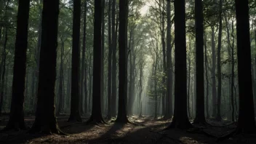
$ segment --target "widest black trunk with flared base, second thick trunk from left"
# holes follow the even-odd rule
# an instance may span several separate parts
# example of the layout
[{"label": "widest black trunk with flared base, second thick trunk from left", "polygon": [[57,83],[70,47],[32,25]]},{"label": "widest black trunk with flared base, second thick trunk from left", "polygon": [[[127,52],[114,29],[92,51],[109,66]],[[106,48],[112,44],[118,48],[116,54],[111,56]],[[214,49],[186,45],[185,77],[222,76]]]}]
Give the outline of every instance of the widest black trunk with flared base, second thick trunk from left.
[{"label": "widest black trunk with flared base, second thick trunk from left", "polygon": [[[44,1],[36,119],[31,132],[60,134],[55,117],[55,79],[59,0]],[[49,33],[51,31],[51,33]],[[49,65],[51,63],[51,65]]]}]

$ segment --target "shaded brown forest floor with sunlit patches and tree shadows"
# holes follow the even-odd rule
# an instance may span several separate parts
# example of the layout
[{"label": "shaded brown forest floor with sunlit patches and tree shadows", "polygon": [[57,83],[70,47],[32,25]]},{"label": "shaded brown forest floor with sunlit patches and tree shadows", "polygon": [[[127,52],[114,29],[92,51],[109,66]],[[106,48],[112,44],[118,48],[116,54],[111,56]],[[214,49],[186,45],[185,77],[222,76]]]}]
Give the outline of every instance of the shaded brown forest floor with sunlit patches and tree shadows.
[{"label": "shaded brown forest floor with sunlit patches and tree shadows", "polygon": [[[84,116],[87,121],[89,116]],[[0,129],[7,124],[8,116],[0,117]],[[33,124],[33,116],[26,116],[28,127]],[[135,124],[101,124],[67,122],[68,115],[58,116],[60,129],[69,135],[28,134],[26,131],[9,131],[0,133],[0,143],[216,143],[217,137],[227,135],[236,128],[231,121],[216,122],[208,120],[215,127],[200,127],[181,131],[164,130],[170,121],[152,117],[129,117]],[[110,121],[109,121],[110,122]],[[236,135],[219,143],[256,143],[256,135]]]}]

